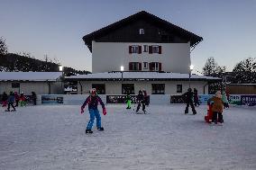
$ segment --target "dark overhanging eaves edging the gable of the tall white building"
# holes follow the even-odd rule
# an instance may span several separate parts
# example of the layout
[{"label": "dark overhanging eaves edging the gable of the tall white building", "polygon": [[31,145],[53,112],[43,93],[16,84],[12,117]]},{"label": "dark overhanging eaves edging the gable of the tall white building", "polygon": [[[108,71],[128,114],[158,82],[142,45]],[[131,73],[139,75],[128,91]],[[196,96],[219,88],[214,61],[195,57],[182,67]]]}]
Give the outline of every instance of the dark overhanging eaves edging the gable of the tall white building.
[{"label": "dark overhanging eaves edging the gable of the tall white building", "polygon": [[114,31],[118,28],[121,28],[130,22],[138,21],[138,20],[147,20],[151,21],[152,24],[158,26],[159,28],[162,28],[166,31],[175,31],[177,32],[178,36],[181,36],[183,38],[186,38],[187,42],[190,41],[190,46],[194,47],[199,43],[201,40],[203,40],[202,37],[197,36],[196,34],[187,31],[183,28],[178,27],[177,25],[174,25],[170,22],[167,22],[165,20],[160,19],[159,17],[147,13],[145,11],[141,11],[139,13],[135,13],[127,18],[124,18],[123,20],[120,20],[118,22],[114,22],[100,30],[94,31],[92,33],[87,34],[86,36],[83,37],[83,40],[85,41],[85,44],[87,45],[88,49],[92,51],[92,40],[96,40],[99,37],[103,37],[106,34],[108,34],[111,31]]}]

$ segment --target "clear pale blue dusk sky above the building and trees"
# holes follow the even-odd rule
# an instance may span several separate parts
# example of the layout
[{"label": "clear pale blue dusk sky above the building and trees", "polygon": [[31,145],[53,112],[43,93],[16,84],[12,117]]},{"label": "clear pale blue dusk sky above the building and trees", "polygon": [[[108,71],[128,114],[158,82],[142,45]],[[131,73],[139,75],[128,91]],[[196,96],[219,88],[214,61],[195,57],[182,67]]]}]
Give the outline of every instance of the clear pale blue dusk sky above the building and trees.
[{"label": "clear pale blue dusk sky above the building and trees", "polygon": [[191,53],[199,72],[209,57],[228,71],[256,58],[256,0],[0,0],[0,37],[9,52],[91,71],[82,37],[142,10],[204,38]]}]

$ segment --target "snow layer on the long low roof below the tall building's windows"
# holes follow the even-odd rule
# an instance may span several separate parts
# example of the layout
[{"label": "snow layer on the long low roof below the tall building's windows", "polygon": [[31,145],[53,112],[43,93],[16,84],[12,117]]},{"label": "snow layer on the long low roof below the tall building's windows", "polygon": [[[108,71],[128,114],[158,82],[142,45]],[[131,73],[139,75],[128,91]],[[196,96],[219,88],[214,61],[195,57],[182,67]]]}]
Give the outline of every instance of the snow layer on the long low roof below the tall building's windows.
[{"label": "snow layer on the long low roof below the tall building's windows", "polygon": [[[77,76],[66,76],[68,79],[114,79],[122,78],[121,72],[105,72],[105,73],[94,73],[87,75],[77,75]],[[181,73],[159,73],[159,72],[123,72],[123,78],[126,79],[188,79],[189,74]],[[220,78],[213,76],[198,76],[191,75],[191,79],[207,79],[207,80],[219,80]]]}]

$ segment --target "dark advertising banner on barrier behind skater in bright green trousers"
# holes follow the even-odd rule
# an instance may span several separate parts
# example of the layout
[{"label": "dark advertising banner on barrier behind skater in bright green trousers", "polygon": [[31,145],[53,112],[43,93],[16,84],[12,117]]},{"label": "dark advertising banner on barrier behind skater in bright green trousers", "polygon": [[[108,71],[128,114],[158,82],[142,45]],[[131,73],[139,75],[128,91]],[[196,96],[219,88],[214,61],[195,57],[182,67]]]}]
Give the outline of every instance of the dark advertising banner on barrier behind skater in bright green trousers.
[{"label": "dark advertising banner on barrier behind skater in bright green trousers", "polygon": [[[132,103],[136,103],[137,95],[130,95]],[[148,103],[150,103],[150,95],[148,95]],[[125,103],[126,95],[106,95],[106,103]]]}]

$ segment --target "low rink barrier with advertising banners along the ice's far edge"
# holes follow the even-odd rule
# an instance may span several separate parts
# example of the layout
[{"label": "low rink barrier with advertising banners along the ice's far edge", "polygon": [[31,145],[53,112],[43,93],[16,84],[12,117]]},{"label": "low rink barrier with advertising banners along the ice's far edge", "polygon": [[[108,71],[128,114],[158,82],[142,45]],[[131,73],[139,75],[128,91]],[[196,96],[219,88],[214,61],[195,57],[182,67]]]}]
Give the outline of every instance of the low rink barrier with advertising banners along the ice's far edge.
[{"label": "low rink barrier with advertising banners along the ice's far edge", "polygon": [[[37,104],[64,104],[64,105],[81,105],[87,99],[88,94],[38,94]],[[125,95],[108,95],[99,94],[102,101],[107,104],[121,104],[125,103]],[[199,103],[206,104],[207,100],[214,96],[213,94],[199,94]],[[132,95],[132,102],[135,101],[135,95]],[[233,105],[256,105],[256,94],[231,94],[228,99]],[[151,94],[151,104],[173,104],[184,103],[181,95],[169,94]]]}]

